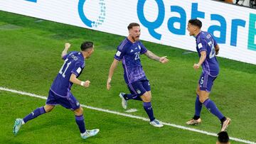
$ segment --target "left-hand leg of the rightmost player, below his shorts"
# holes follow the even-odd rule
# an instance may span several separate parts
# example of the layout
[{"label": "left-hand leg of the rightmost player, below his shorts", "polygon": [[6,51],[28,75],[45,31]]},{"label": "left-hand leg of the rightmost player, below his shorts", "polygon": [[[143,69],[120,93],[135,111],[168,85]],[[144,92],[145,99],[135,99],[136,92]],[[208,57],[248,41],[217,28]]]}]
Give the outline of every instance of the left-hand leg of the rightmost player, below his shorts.
[{"label": "left-hand leg of the rightmost player, below his shorts", "polygon": [[198,87],[196,88],[195,114],[190,121],[186,122],[186,124],[188,125],[196,125],[201,123],[200,115],[201,115],[203,104],[199,101],[199,92],[200,92],[200,89],[198,85]]}]

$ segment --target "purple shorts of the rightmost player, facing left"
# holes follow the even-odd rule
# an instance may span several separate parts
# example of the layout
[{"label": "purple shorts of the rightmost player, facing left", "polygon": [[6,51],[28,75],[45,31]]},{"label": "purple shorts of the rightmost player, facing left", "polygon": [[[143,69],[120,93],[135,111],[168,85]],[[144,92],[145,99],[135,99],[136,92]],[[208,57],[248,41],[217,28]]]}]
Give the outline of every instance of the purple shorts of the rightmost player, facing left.
[{"label": "purple shorts of the rightmost player, facing left", "polygon": [[211,77],[209,74],[202,73],[198,81],[200,90],[210,92],[211,88],[213,87],[213,81],[216,78],[217,77]]}]

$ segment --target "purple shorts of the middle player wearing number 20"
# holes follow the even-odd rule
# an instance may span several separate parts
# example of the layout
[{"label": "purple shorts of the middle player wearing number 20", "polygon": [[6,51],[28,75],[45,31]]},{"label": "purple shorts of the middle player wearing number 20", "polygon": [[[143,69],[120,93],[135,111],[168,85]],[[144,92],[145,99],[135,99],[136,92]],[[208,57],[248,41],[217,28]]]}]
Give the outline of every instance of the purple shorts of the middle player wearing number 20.
[{"label": "purple shorts of the middle player wearing number 20", "polygon": [[133,98],[136,98],[137,96],[142,96],[145,92],[151,91],[148,79],[132,82],[132,84],[128,84],[127,86],[129,91],[133,95]]}]

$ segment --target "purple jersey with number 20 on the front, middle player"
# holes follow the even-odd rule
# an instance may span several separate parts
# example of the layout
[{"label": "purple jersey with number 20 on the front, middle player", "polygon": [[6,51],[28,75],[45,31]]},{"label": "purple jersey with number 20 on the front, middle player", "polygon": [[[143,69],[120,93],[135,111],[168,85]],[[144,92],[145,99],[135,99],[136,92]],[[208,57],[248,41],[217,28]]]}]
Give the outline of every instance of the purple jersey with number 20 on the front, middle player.
[{"label": "purple jersey with number 20 on the front, middle player", "polygon": [[117,47],[117,53],[114,55],[116,60],[122,60],[124,68],[124,80],[127,84],[136,82],[146,77],[139,56],[146,52],[145,46],[141,41],[132,43],[125,38]]}]

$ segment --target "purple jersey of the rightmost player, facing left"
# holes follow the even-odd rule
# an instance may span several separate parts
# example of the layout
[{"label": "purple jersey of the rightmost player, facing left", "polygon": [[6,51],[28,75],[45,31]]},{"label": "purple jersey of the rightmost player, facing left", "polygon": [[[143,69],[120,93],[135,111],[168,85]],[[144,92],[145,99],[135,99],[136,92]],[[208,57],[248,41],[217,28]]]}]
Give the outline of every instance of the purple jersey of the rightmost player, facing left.
[{"label": "purple jersey of the rightmost player, facing left", "polygon": [[213,35],[208,32],[201,31],[196,35],[196,50],[199,57],[201,57],[201,51],[206,51],[206,60],[202,64],[203,73],[212,77],[217,77],[219,73],[218,60],[215,57],[215,45],[217,44]]}]

